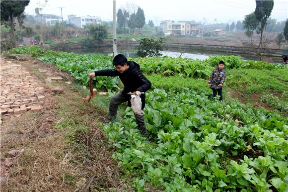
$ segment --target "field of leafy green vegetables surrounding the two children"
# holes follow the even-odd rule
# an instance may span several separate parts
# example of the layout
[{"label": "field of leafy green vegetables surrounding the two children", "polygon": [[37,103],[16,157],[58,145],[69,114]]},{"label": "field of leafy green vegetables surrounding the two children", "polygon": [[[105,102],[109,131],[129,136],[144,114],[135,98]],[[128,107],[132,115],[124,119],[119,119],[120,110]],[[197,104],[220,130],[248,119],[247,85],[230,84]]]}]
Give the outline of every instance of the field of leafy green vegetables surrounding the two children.
[{"label": "field of leafy green vegetables surrounding the two children", "polygon": [[[52,63],[84,85],[89,73],[112,68],[113,58],[101,55],[44,51],[33,46],[10,51],[18,53]],[[288,191],[287,116],[229,98],[224,102],[212,99],[211,91],[203,86],[219,60],[235,76],[238,72],[247,73],[248,77],[248,71],[255,76],[258,71],[271,71],[276,83],[269,89],[284,97],[287,94],[288,70],[284,65],[244,61],[239,56],[215,56],[204,61],[170,57],[133,59],[149,75],[148,79],[155,81],[146,95],[144,110],[148,135],[140,134],[129,107],[121,120],[102,124],[102,129],[115,147],[113,157],[121,165],[123,178],[133,178],[130,187],[135,191]],[[171,76],[175,77],[174,82],[161,81]],[[249,78],[253,84],[256,77]],[[227,76],[234,87],[242,85],[237,82],[239,79],[229,80]],[[94,82],[99,89],[119,89],[117,78],[96,77]],[[258,90],[251,93],[255,91]],[[270,94],[262,100],[287,112],[283,99]]]}]

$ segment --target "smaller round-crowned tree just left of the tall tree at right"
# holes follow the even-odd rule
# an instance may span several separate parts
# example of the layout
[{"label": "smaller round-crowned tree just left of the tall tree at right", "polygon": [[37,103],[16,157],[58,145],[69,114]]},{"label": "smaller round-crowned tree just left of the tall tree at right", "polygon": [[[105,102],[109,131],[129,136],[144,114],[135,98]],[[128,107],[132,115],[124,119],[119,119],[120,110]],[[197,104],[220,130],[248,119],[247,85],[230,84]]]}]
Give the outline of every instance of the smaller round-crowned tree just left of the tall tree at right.
[{"label": "smaller round-crowned tree just left of the tall tree at right", "polygon": [[250,38],[250,43],[253,41],[253,31],[256,30],[259,26],[259,22],[256,19],[254,12],[245,15],[243,20],[243,28],[245,30],[246,36]]}]

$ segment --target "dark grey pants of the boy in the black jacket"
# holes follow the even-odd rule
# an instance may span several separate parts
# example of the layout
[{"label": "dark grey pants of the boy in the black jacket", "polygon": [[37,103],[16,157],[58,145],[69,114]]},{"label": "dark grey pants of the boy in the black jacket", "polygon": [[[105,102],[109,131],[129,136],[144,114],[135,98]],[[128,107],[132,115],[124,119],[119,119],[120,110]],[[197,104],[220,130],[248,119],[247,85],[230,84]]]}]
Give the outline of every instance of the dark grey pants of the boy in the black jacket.
[{"label": "dark grey pants of the boy in the black jacket", "polygon": [[[122,96],[121,93],[113,96],[110,99],[110,104],[109,104],[109,117],[110,117],[110,121],[114,121],[116,119],[117,116],[117,110],[118,110],[118,105],[128,101],[129,99],[127,99],[127,97]],[[145,121],[144,121],[144,115],[137,115],[135,114],[135,119],[138,125],[138,128],[140,129],[142,134],[146,134],[146,127],[145,127]]]}]

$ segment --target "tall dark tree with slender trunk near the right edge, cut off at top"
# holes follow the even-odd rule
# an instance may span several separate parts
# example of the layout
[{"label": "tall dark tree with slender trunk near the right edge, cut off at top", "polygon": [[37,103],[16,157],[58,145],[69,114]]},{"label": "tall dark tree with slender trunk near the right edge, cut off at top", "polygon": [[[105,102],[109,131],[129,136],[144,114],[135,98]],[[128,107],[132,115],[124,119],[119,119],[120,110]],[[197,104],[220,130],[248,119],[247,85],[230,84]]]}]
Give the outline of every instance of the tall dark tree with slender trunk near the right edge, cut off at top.
[{"label": "tall dark tree with slender trunk near the right edge, cut off at top", "polygon": [[256,8],[255,8],[254,14],[256,16],[256,19],[260,23],[257,29],[257,33],[259,34],[259,38],[260,38],[259,43],[257,45],[259,60],[261,60],[262,58],[262,54],[261,54],[262,49],[263,49],[264,44],[266,44],[265,42],[266,40],[264,39],[265,36],[263,36],[263,32],[267,24],[267,19],[271,15],[273,6],[274,6],[273,0],[256,0]]}]

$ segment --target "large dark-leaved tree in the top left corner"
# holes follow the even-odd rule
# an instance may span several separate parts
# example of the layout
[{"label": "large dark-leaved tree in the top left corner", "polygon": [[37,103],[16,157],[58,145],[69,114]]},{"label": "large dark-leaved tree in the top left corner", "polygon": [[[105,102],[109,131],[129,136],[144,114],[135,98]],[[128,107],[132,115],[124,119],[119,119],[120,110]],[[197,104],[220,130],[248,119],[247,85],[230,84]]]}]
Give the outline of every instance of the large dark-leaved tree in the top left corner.
[{"label": "large dark-leaved tree in the top left corner", "polygon": [[16,47],[16,39],[14,35],[14,19],[20,16],[25,6],[29,4],[30,0],[2,0],[1,1],[1,23],[9,22],[10,38],[13,41],[13,47]]}]

